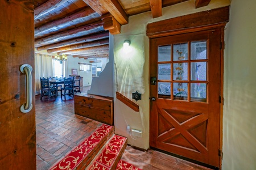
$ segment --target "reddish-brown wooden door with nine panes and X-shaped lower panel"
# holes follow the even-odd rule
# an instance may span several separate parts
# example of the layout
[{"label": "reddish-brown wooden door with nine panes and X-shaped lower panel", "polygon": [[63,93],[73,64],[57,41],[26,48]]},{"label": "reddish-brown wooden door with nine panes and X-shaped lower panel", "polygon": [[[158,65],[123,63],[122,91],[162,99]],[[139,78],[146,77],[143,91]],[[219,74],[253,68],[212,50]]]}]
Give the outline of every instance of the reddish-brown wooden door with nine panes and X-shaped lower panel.
[{"label": "reddish-brown wooden door with nine panes and X-shaped lower panel", "polygon": [[150,39],[151,147],[219,167],[220,43],[221,29]]}]

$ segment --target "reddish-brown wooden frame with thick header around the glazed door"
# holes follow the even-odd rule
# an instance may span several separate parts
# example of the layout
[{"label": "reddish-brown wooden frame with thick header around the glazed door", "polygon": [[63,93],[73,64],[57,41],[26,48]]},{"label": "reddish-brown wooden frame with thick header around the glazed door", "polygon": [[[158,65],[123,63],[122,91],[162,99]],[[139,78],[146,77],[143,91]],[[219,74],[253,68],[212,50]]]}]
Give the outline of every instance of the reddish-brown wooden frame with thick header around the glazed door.
[{"label": "reddish-brown wooden frame with thick header around the glazed door", "polygon": [[[216,8],[209,11],[197,12],[185,16],[178,16],[176,18],[166,19],[147,25],[147,36],[149,39],[179,35],[183,33],[192,33],[197,31],[205,31],[209,29],[221,28],[221,77],[220,77],[220,148],[222,148],[223,141],[223,84],[224,84],[224,28],[229,22],[230,6]],[[171,24],[170,24],[171,23]],[[152,68],[152,66],[150,65]],[[150,94],[150,99],[151,99]],[[150,104],[151,107],[151,104]],[[220,165],[222,164],[222,151],[220,150]]]}]

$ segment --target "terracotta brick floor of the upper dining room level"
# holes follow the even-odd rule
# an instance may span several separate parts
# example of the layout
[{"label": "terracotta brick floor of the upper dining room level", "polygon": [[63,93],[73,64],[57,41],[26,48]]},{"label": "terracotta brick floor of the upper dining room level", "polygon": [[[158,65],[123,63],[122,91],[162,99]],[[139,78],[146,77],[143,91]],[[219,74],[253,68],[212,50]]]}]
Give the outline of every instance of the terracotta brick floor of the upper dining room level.
[{"label": "terracotta brick floor of the upper dining room level", "polygon": [[[88,88],[84,88],[87,91]],[[56,100],[36,96],[36,167],[49,169],[89,137],[100,122],[74,114],[73,97]],[[64,99],[64,97],[63,97]]]}]

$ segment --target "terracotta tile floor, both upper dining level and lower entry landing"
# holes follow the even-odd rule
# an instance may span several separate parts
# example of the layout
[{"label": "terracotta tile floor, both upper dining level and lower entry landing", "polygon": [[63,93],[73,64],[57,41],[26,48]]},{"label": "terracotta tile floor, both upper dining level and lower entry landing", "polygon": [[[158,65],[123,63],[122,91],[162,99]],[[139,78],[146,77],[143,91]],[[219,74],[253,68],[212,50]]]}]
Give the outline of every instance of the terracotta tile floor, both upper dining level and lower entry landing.
[{"label": "terracotta tile floor, both upper dining level and lower entry landing", "polygon": [[[83,88],[86,92],[90,87]],[[73,97],[56,100],[36,96],[36,167],[49,169],[69,151],[89,137],[100,122],[74,114]],[[158,151],[142,152],[127,146],[123,160],[141,169],[209,169]]]}]

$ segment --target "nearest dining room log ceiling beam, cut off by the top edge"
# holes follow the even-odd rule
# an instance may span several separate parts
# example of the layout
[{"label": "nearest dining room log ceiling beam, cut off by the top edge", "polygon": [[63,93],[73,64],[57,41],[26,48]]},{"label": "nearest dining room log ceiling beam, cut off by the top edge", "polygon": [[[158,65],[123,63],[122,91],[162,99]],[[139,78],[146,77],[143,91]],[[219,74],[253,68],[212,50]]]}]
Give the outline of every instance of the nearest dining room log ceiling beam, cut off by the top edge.
[{"label": "nearest dining room log ceiling beam, cut off by the top edge", "polygon": [[55,10],[59,6],[63,5],[63,3],[68,1],[69,0],[49,0],[46,3],[43,3],[43,5],[36,7],[34,11],[35,20],[47,14],[48,12]]}]

